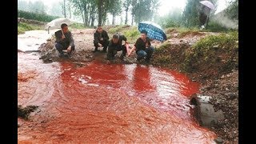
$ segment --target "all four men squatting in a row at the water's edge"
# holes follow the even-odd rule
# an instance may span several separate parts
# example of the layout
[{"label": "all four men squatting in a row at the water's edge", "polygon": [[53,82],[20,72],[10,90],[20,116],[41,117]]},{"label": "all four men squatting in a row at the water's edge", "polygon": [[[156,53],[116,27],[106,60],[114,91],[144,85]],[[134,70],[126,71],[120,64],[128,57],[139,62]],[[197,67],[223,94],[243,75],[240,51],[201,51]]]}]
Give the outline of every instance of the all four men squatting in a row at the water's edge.
[{"label": "all four men squatting in a row at the water's edge", "polygon": [[[61,28],[62,30],[55,32],[55,47],[58,50],[59,57],[69,57],[71,52],[74,50],[74,39],[72,38],[72,34],[68,30],[66,23],[63,23]],[[126,54],[129,57],[130,54],[132,54],[135,50],[137,60],[139,62],[141,62],[143,59],[146,62],[150,62],[150,58],[154,52],[154,47],[151,46],[150,38],[148,38],[146,35],[146,30],[142,30],[141,37],[137,39],[132,49],[129,50],[126,36],[115,33],[110,39],[106,30],[103,30],[102,26],[98,26],[94,33],[93,52],[99,51],[98,48],[102,47],[102,52],[106,53],[106,58],[108,60],[114,60],[115,54],[117,54],[118,51],[122,51],[120,58],[123,60]],[[123,41],[124,44],[122,44]],[[66,54],[64,54],[65,50]]]}]

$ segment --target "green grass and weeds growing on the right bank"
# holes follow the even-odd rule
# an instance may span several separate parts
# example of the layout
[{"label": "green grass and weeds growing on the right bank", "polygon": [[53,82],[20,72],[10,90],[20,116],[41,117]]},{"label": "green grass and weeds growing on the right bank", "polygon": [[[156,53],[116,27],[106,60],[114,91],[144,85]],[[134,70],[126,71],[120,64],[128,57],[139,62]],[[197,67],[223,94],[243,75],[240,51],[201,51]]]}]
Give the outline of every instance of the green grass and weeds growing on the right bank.
[{"label": "green grass and weeds growing on the right bank", "polygon": [[[210,35],[198,41],[186,52],[182,70],[194,72],[201,65],[220,72],[232,70],[238,66],[238,32]],[[220,64],[222,62],[222,64]],[[219,64],[218,64],[219,63]]]}]

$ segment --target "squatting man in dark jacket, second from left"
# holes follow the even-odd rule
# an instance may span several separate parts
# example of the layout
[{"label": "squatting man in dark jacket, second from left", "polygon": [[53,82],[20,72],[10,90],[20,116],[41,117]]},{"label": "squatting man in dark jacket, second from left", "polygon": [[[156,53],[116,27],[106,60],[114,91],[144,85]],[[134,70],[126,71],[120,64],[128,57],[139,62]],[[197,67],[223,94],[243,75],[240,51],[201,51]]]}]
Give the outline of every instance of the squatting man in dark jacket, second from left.
[{"label": "squatting man in dark jacket, second from left", "polygon": [[109,36],[105,30],[102,30],[102,26],[98,26],[96,32],[94,33],[94,51],[98,51],[98,47],[103,46],[103,52],[106,53],[106,48],[109,45]]}]

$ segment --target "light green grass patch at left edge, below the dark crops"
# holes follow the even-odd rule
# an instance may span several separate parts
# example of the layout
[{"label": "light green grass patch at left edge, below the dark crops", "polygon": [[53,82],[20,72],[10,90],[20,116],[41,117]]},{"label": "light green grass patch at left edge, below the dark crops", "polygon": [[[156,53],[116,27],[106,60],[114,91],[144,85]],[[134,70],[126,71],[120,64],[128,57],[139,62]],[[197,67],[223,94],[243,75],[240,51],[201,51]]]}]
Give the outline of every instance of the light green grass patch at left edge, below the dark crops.
[{"label": "light green grass patch at left edge, below the dark crops", "polygon": [[24,34],[25,31],[28,31],[28,30],[43,30],[43,26],[29,24],[26,22],[18,23],[18,34]]}]

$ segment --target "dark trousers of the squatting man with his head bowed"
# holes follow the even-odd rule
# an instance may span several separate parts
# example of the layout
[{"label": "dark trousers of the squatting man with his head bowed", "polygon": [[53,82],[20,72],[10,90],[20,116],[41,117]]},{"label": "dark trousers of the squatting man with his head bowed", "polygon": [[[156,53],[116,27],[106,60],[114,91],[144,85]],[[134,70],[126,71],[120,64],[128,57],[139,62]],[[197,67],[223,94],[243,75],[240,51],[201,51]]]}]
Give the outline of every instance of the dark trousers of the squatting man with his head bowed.
[{"label": "dark trousers of the squatting man with his head bowed", "polygon": [[122,46],[109,46],[109,49],[107,50],[107,54],[106,57],[108,59],[114,59],[114,55],[118,53],[118,51],[122,50],[122,55],[121,57],[124,57],[127,53],[126,50],[126,45],[122,45]]}]

